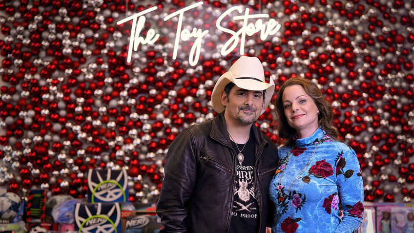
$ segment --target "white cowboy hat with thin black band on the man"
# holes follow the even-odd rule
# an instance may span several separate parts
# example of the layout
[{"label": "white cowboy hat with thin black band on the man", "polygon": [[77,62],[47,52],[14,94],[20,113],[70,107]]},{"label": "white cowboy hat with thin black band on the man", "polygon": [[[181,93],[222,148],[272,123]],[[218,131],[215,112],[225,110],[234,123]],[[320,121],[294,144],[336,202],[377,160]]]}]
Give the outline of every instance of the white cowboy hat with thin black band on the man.
[{"label": "white cowboy hat with thin black band on the man", "polygon": [[224,87],[230,82],[234,83],[239,88],[246,90],[266,90],[265,105],[260,114],[265,112],[273,96],[274,82],[273,79],[270,78],[270,83],[266,83],[265,71],[258,58],[241,56],[231,65],[228,72],[220,76],[211,92],[211,106],[218,113],[225,109],[220,101],[221,93],[224,91]]}]

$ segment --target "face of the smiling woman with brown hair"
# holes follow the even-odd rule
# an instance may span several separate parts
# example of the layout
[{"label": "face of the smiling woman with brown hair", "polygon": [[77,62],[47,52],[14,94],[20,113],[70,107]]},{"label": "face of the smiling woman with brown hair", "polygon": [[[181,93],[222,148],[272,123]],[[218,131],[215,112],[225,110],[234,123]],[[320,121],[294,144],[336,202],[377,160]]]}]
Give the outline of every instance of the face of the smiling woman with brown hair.
[{"label": "face of the smiling woman with brown hair", "polygon": [[318,107],[301,85],[291,85],[282,94],[282,104],[290,127],[300,138],[311,136],[319,126]]}]

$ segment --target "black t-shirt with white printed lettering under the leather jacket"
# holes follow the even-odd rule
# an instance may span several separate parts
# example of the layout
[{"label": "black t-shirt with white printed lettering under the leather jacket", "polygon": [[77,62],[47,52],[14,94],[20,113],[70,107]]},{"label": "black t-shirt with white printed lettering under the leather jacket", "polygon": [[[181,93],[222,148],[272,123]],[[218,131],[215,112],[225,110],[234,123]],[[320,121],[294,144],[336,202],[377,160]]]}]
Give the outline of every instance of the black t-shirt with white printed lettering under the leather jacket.
[{"label": "black t-shirt with white printed lettering under the leather jacket", "polygon": [[[250,135],[251,136],[251,135]],[[232,142],[236,153],[239,150]],[[244,144],[237,144],[242,149]],[[242,165],[237,161],[236,187],[230,222],[230,233],[257,232],[258,209],[256,191],[254,189],[254,142],[249,137],[246,147],[241,152],[244,155]]]}]

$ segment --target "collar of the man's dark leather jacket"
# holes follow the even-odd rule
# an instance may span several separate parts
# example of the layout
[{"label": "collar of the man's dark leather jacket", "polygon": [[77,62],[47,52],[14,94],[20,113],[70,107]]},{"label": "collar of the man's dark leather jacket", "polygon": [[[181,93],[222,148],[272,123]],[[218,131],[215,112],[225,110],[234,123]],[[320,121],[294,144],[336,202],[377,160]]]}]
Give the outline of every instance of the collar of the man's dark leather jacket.
[{"label": "collar of the man's dark leather jacket", "polygon": [[[224,111],[222,111],[217,117],[212,120],[212,126],[210,131],[210,137],[220,141],[222,143],[231,145],[230,137],[228,136],[226,119],[224,118]],[[265,139],[262,137],[261,132],[253,123],[250,128],[250,132],[253,134],[255,144],[260,145]]]}]

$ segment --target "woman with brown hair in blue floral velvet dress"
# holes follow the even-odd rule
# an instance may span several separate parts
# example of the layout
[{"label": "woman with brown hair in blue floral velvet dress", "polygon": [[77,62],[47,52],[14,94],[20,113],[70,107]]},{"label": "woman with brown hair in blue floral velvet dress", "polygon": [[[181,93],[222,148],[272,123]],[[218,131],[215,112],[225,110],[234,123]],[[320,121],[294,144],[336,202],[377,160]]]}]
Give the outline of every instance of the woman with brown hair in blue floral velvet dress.
[{"label": "woman with brown hair in blue floral velvet dress", "polygon": [[280,87],[275,106],[286,143],[269,186],[272,233],[356,231],[364,211],[363,181],[355,151],[333,127],[331,104],[314,83],[295,76]]}]

